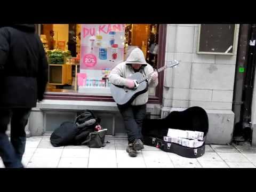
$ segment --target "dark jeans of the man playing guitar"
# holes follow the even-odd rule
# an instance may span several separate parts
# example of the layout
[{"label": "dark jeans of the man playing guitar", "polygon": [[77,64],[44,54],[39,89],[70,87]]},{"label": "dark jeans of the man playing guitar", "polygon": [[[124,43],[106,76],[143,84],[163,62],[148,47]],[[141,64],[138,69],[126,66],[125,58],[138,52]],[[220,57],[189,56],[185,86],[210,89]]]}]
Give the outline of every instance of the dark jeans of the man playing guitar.
[{"label": "dark jeans of the man playing guitar", "polygon": [[132,143],[135,139],[143,140],[141,134],[142,121],[146,116],[146,104],[140,106],[120,107],[118,109],[124,119],[125,130],[128,135],[128,142]]}]

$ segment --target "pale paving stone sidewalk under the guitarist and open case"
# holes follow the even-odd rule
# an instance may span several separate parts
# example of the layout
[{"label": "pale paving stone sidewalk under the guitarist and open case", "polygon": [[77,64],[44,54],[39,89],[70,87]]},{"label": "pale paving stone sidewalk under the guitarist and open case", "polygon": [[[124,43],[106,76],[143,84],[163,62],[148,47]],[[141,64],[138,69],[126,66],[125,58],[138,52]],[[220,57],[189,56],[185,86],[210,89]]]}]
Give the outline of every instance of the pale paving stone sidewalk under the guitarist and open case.
[{"label": "pale paving stone sidewalk under the guitarist and open case", "polygon": [[[126,140],[106,138],[104,148],[53,147],[50,136],[27,138],[22,162],[27,168],[255,168],[256,148],[250,145],[206,145],[202,157],[191,159],[145,146],[135,158]],[[0,159],[0,167],[4,167]]]}]

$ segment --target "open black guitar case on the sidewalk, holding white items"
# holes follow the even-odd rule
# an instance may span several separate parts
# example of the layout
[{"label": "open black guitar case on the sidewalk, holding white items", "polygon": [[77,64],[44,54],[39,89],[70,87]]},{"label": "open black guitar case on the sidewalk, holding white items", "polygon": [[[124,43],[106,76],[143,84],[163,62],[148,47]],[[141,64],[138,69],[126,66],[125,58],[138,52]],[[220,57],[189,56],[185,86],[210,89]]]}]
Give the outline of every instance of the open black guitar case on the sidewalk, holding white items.
[{"label": "open black guitar case on the sidewalk, holding white items", "polygon": [[[163,140],[163,137],[167,136],[168,129],[204,132],[203,145],[198,148],[190,148],[177,143],[166,142]],[[144,119],[142,123],[144,145],[154,146],[163,151],[188,158],[198,158],[204,155],[205,138],[208,130],[208,116],[201,107],[190,107],[183,111],[172,111],[166,118]]]}]

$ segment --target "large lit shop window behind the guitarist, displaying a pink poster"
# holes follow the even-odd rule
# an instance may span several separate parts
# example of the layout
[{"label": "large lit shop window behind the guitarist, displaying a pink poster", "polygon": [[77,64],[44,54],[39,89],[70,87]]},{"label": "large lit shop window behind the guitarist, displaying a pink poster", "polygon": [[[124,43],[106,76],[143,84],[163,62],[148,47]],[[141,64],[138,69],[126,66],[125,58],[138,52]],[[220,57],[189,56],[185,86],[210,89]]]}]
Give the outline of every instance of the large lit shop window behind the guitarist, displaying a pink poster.
[{"label": "large lit shop window behind the guitarist, displaying a pink poster", "polygon": [[[157,68],[157,24],[42,24],[41,41],[49,60],[47,93],[111,95],[110,70],[134,47]],[[155,96],[155,89],[149,95]]]}]

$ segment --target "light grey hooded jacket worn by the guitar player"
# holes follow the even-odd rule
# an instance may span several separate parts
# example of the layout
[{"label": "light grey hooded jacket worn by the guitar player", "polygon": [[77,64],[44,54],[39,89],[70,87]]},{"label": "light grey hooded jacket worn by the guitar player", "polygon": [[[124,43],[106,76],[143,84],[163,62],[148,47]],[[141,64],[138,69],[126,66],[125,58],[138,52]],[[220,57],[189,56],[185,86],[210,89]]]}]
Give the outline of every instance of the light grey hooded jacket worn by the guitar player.
[{"label": "light grey hooded jacket worn by the guitar player", "polygon": [[[109,81],[115,85],[124,86],[126,81],[125,79],[135,73],[131,66],[132,63],[138,63],[142,65],[140,73],[142,73],[143,75],[149,75],[154,72],[153,67],[151,67],[146,62],[143,52],[139,48],[135,48],[126,61],[119,63],[114,69],[111,70],[111,73],[109,75]],[[158,79],[156,79],[155,81],[153,81],[153,79],[150,79],[148,82],[149,87],[156,87],[157,84]],[[148,91],[140,94],[137,98],[135,98],[131,105],[144,105],[147,102]]]}]

